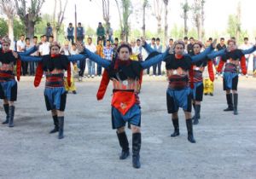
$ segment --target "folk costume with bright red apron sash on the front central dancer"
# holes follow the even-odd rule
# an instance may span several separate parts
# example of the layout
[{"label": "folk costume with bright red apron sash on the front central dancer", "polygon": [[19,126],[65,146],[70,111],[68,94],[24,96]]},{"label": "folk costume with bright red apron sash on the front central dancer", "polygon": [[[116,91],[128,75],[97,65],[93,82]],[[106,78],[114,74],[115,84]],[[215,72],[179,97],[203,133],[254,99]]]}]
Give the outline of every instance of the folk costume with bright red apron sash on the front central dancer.
[{"label": "folk costume with bright red apron sash on the front central dancer", "polygon": [[[122,44],[119,49],[127,48],[131,53],[131,47]],[[163,60],[166,53],[157,55],[148,61],[121,61],[116,59],[115,61],[106,61],[100,56],[95,55],[88,49],[84,49],[85,55],[90,58],[91,61],[95,61],[97,64],[103,66],[105,71],[103,72],[102,82],[97,93],[97,99],[102,100],[105,91],[107,90],[109,80],[113,82],[113,97],[112,97],[112,125],[113,129],[119,130],[125,127],[125,123],[128,122],[131,125],[141,126],[141,107],[137,94],[138,86],[140,85],[140,78],[143,75],[143,69],[148,68],[159,61]],[[125,131],[118,132],[119,145],[122,147],[122,153],[119,159],[126,159],[129,152],[129,143]],[[140,132],[133,132],[132,134],[132,164],[134,168],[140,168],[140,148],[142,137]]]}]

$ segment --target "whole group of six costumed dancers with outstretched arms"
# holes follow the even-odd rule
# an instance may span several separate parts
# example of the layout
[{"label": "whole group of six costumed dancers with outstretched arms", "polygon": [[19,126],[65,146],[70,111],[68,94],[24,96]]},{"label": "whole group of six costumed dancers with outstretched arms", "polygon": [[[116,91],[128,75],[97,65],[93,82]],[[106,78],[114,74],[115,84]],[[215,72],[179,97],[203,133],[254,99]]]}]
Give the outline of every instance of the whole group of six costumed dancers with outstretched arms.
[{"label": "whole group of six costumed dancers with outstretched arms", "polygon": [[[166,62],[166,75],[168,87],[166,90],[167,112],[172,114],[172,124],[174,131],[172,137],[179,136],[178,109],[183,108],[186,126],[188,130],[188,141],[195,143],[193,135],[193,123],[198,124],[201,101],[203,95],[202,72],[205,66],[211,80],[214,79],[212,70],[212,59],[220,56],[221,61],[218,71],[224,66],[224,90],[226,91],[228,108],[224,111],[233,111],[238,114],[238,66],[242,72],[247,73],[245,54],[250,54],[256,50],[256,46],[251,49],[236,49],[236,41],[229,40],[228,47],[220,51],[214,51],[216,39],[201,52],[202,43],[193,44],[194,55],[184,54],[185,44],[178,40],[174,43],[173,49],[166,49],[164,53],[159,53],[151,49],[150,45],[142,38],[143,48],[148,52],[147,61],[131,61],[131,46],[122,43],[117,49],[117,56],[113,61],[107,61],[84,48],[80,43],[79,55],[61,55],[59,43],[51,43],[49,55],[40,57],[30,56],[37,47],[23,52],[16,53],[9,49],[10,40],[4,37],[2,40],[3,50],[0,52],[0,98],[3,99],[3,107],[6,119],[3,124],[14,127],[15,105],[17,98],[17,82],[15,80],[15,66],[18,81],[20,80],[20,61],[37,61],[34,85],[40,84],[45,73],[44,99],[46,108],[51,111],[54,121],[54,129],[50,133],[58,132],[58,138],[64,137],[64,111],[66,107],[67,93],[64,86],[64,72],[67,71],[67,83],[71,84],[70,62],[80,61],[89,58],[98,65],[105,68],[102,81],[97,92],[97,99],[102,100],[110,81],[113,83],[113,97],[111,101],[112,126],[116,130],[119,145],[122,148],[119,159],[126,159],[130,155],[129,142],[125,133],[125,124],[131,127],[132,131],[132,165],[140,168],[140,149],[142,145],[141,135],[141,107],[139,101],[139,90],[142,85],[143,70],[149,66]],[[195,116],[192,118],[192,106],[195,109]],[[194,120],[194,121],[193,121]]]}]

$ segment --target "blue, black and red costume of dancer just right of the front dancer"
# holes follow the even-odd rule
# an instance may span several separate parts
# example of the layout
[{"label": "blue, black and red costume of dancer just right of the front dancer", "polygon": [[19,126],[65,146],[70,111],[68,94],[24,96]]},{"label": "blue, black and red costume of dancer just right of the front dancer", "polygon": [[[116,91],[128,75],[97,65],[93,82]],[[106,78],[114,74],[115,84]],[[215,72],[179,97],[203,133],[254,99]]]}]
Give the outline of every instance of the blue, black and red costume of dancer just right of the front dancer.
[{"label": "blue, black and red costume of dancer just right of the front dancer", "polygon": [[[184,47],[183,42],[178,41],[175,45],[177,44]],[[154,56],[157,54],[157,52],[154,51],[154,49],[151,49],[147,43],[145,43],[144,48],[150,53],[149,55]],[[179,107],[182,107],[184,112],[191,114],[193,99],[191,89],[194,89],[194,83],[190,83],[189,87],[189,78],[193,79],[193,66],[196,66],[196,63],[199,63],[200,61],[206,61],[207,55],[210,54],[212,50],[213,47],[211,45],[199,55],[169,54],[164,60],[166,62],[166,74],[169,80],[168,89],[166,91],[167,111],[168,113],[172,113],[172,124],[174,126],[174,132],[171,135],[172,137],[179,136],[178,118],[174,118],[173,114],[178,112]],[[197,86],[195,86],[195,89],[196,87]],[[191,117],[186,118],[186,125],[188,130],[188,140],[191,143],[195,143]]]}]

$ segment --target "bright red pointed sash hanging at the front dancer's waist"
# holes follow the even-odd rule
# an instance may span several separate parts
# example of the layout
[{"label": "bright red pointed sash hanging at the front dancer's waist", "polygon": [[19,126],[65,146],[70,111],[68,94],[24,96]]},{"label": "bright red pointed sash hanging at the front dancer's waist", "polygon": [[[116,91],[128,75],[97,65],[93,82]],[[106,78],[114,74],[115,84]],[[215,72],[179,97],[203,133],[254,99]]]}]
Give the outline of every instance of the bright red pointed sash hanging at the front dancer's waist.
[{"label": "bright red pointed sash hanging at the front dancer's waist", "polygon": [[130,91],[116,91],[113,93],[111,105],[125,115],[131,107],[136,103],[136,96],[134,92]]}]

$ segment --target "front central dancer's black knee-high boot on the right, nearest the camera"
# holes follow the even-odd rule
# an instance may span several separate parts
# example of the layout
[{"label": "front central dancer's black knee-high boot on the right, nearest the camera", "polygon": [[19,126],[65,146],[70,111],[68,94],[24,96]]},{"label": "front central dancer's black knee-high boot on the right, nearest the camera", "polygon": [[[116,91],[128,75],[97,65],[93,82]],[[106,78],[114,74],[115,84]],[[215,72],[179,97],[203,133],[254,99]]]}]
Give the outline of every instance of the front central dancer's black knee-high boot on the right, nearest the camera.
[{"label": "front central dancer's black knee-high boot on the right, nearest the camera", "polygon": [[140,150],[142,145],[141,133],[132,134],[132,166],[136,169],[141,167]]}]

